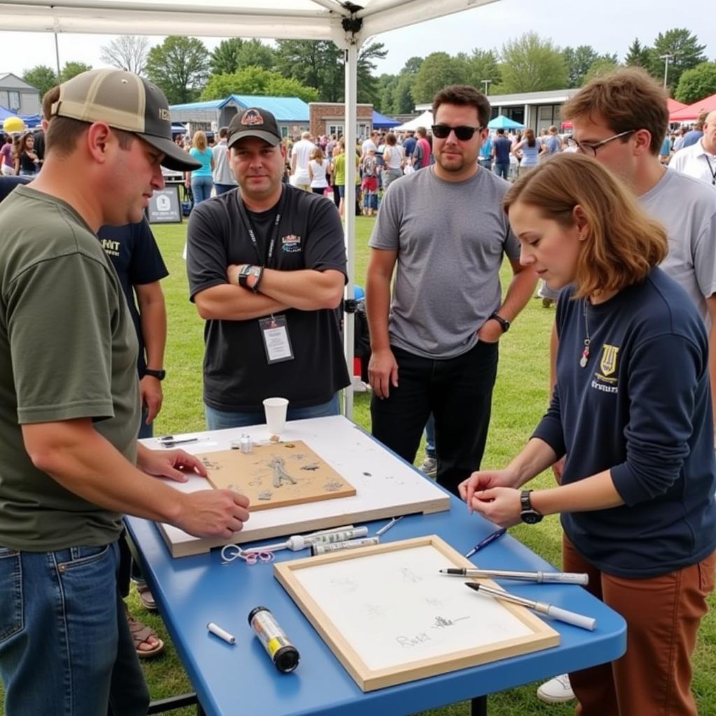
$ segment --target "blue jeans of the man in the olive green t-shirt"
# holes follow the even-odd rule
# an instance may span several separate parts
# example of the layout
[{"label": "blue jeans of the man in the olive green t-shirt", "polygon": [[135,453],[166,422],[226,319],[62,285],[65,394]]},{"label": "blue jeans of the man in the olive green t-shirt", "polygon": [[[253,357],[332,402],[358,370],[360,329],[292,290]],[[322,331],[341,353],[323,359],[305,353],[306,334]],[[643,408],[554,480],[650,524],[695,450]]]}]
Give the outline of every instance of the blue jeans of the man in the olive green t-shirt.
[{"label": "blue jeans of the man in the olive green t-shirt", "polygon": [[6,716],[140,716],[149,692],[117,592],[119,548],[0,548]]}]

